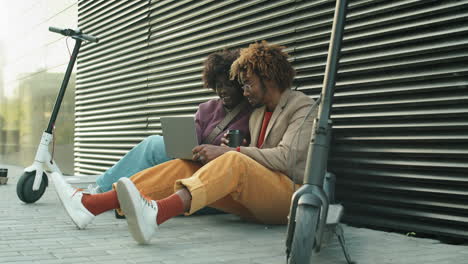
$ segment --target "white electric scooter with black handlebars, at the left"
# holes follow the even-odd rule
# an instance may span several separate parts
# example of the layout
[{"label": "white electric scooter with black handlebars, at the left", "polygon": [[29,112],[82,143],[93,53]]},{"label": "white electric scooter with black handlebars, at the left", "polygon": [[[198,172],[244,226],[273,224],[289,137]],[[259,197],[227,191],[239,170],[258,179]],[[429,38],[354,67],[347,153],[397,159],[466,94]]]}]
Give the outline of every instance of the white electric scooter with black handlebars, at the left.
[{"label": "white electric scooter with black handlebars, at the left", "polygon": [[47,129],[42,133],[41,141],[36,151],[34,162],[31,166],[24,169],[23,175],[18,180],[16,185],[16,194],[18,198],[25,203],[34,203],[39,200],[45,192],[48,186],[47,174],[44,172],[44,167],[48,168],[52,173],[56,172],[63,177],[60,168],[57,163],[53,160],[52,155],[49,152],[49,145],[53,141],[52,131],[54,124],[57,119],[60,105],[62,104],[65,90],[67,89],[68,82],[75,64],[78,52],[83,41],[98,42],[98,38],[91,35],[86,35],[79,29],[60,29],[55,27],[49,27],[49,31],[59,33],[67,37],[71,37],[75,40],[75,47],[70,57],[70,61],[65,72],[62,86],[60,87],[59,94],[55,101],[52,115],[50,116],[49,125]]}]

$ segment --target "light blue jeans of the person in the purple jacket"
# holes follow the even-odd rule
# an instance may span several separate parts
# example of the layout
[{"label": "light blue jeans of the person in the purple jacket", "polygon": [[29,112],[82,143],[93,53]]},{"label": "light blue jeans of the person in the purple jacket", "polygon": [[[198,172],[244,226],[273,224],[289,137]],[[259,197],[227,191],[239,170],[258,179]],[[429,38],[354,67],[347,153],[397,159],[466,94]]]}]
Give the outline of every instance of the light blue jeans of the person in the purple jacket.
[{"label": "light blue jeans of the person in the purple jacket", "polygon": [[133,147],[121,160],[108,169],[96,180],[103,192],[110,191],[112,184],[122,177],[129,178],[133,174],[171,160],[166,155],[162,136],[149,136]]}]

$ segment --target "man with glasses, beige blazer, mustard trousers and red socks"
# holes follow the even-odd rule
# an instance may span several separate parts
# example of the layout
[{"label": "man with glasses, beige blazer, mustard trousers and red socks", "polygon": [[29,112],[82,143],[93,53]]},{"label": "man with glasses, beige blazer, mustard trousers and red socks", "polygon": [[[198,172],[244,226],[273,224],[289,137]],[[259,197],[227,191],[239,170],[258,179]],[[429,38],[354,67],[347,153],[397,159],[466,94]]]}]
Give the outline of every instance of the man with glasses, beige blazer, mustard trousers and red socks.
[{"label": "man with glasses, beige blazer, mustard trousers and red socks", "polygon": [[[291,91],[295,73],[283,49],[254,43],[231,66],[231,79],[240,80],[244,96],[258,106],[249,120],[249,146],[197,146],[193,159],[204,165],[168,161],[121,178],[115,190],[101,194],[107,198],[96,199],[111,200],[105,209],[123,210],[139,244],[149,243],[168,219],[207,205],[252,221],[287,223],[294,182],[301,184],[304,176],[312,129],[312,118],[305,117],[313,101]],[[75,223],[90,214],[86,208],[75,214]]]}]

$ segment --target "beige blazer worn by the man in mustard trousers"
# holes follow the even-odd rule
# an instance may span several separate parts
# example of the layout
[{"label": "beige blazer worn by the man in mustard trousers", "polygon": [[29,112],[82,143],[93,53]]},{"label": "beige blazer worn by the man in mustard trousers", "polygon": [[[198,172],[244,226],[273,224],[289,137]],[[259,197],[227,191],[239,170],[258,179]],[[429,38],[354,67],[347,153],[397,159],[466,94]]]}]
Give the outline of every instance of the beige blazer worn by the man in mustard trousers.
[{"label": "beige blazer worn by the man in mustard trousers", "polygon": [[262,128],[265,106],[255,109],[249,120],[251,143],[248,147],[241,147],[241,153],[271,170],[288,175],[294,182],[302,184],[313,119],[317,110],[314,110],[314,113],[306,120],[301,132],[297,132],[313,102],[301,92],[289,89],[284,91],[273,111],[265,140],[260,148],[256,146]]}]

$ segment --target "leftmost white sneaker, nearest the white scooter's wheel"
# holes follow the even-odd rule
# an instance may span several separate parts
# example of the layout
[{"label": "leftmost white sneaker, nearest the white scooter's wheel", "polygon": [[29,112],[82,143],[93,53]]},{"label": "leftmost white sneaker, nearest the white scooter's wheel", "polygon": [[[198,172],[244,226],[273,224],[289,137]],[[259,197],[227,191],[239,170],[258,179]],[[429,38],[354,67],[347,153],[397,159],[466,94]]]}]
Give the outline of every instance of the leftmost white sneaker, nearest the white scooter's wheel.
[{"label": "leftmost white sneaker, nearest the white scooter's wheel", "polygon": [[81,203],[83,192],[73,188],[57,172],[52,173],[52,181],[55,184],[55,191],[68,216],[78,229],[84,229],[94,219],[94,215]]}]

